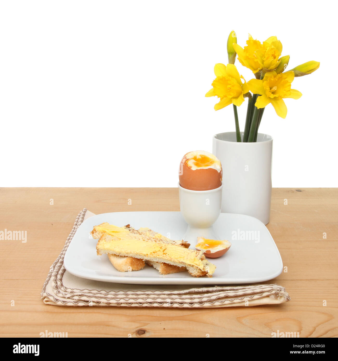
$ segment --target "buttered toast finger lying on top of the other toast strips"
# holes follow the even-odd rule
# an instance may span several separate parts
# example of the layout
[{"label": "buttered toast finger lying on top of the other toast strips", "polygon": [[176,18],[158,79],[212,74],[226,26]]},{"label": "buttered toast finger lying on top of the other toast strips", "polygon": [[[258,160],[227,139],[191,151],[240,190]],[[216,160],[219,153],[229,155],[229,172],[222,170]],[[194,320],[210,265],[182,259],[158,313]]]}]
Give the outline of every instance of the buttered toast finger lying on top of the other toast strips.
[{"label": "buttered toast finger lying on top of the other toast strips", "polygon": [[125,229],[114,232],[113,235],[102,234],[96,249],[98,255],[112,253],[118,256],[183,267],[193,277],[205,275],[211,277],[215,271],[215,266],[205,259],[201,251],[165,243],[159,239],[155,240],[154,237],[126,232]]}]

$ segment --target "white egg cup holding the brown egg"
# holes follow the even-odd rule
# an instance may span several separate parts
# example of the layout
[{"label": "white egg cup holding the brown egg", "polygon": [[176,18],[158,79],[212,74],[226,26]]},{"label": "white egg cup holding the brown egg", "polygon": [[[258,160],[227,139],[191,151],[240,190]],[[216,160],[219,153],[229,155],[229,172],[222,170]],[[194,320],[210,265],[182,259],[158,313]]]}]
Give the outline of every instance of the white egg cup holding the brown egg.
[{"label": "white egg cup holding the brown egg", "polygon": [[221,214],[222,188],[210,191],[191,191],[178,184],[181,214],[188,223],[183,239],[192,246],[196,245],[197,237],[219,239],[213,224]]}]

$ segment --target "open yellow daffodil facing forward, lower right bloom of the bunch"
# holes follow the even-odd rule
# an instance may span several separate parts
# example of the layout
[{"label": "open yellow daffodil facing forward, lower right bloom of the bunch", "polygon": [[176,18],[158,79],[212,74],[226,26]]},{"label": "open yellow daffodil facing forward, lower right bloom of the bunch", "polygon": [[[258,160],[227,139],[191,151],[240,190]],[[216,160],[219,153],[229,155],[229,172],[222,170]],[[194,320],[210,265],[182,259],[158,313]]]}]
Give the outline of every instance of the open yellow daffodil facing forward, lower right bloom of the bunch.
[{"label": "open yellow daffodil facing forward, lower right bloom of the bunch", "polygon": [[280,74],[270,71],[264,75],[262,80],[251,79],[248,81],[249,89],[255,94],[260,94],[255,103],[256,107],[258,109],[265,108],[266,105],[271,103],[277,115],[285,118],[287,108],[283,99],[299,99],[301,97],[301,92],[291,89],[294,77],[293,71]]}]

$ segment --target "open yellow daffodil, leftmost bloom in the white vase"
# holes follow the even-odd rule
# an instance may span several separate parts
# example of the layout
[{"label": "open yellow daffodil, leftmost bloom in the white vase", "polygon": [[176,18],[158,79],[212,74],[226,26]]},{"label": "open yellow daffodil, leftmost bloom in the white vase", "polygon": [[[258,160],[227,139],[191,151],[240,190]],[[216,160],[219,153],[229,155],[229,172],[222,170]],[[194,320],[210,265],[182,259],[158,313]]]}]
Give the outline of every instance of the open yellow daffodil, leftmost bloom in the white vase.
[{"label": "open yellow daffodil, leftmost bloom in the white vase", "polygon": [[[236,66],[233,64],[216,64],[216,79],[211,84],[213,87],[205,96],[217,96],[220,98],[219,103],[215,104],[214,109],[219,110],[231,103],[240,106],[244,101],[244,94],[249,91],[245,79],[239,75]],[[244,80],[242,83],[241,79]]]}]

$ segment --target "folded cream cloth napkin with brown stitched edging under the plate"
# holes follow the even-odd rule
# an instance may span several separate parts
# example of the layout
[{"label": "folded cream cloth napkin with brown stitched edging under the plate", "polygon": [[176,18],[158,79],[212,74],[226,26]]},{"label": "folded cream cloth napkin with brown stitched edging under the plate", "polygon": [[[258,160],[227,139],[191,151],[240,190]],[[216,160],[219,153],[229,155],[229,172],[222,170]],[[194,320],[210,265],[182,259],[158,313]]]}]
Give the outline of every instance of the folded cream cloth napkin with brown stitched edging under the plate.
[{"label": "folded cream cloth napkin with brown stitched edging under the plate", "polygon": [[[252,286],[140,285],[99,282],[76,277],[63,265],[64,255],[81,223],[94,214],[83,209],[44,282],[41,298],[48,305],[126,307],[233,307],[279,304],[290,301],[278,284]],[[95,249],[93,249],[95,254]]]}]

